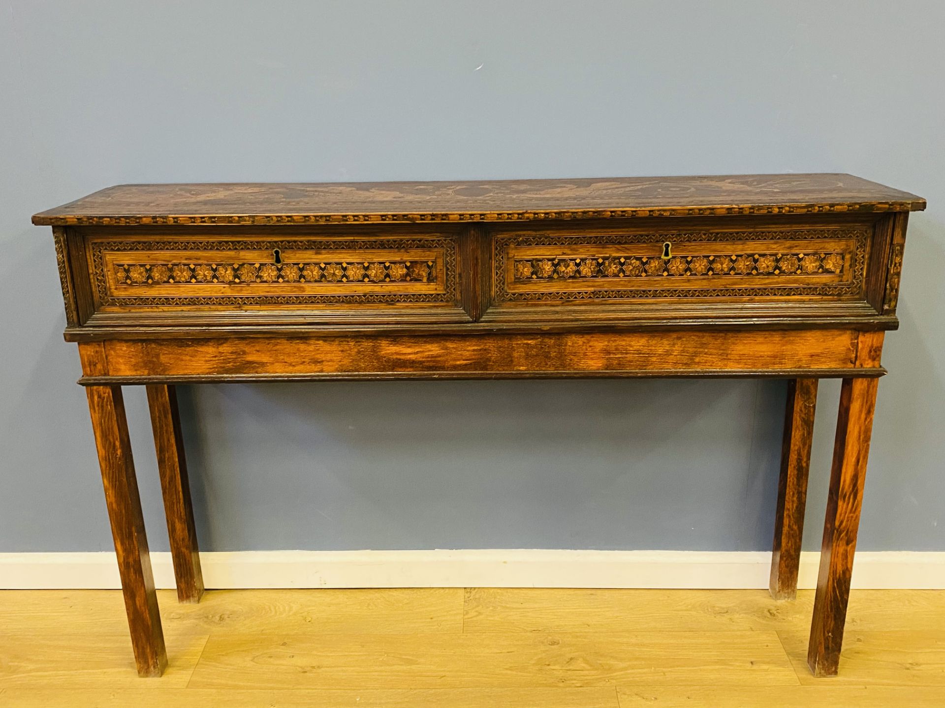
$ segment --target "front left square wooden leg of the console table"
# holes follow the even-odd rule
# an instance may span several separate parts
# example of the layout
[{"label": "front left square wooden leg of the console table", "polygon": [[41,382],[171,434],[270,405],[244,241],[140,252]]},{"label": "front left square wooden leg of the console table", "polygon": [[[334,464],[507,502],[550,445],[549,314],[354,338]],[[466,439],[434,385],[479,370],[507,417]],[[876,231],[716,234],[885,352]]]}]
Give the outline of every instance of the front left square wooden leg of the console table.
[{"label": "front left square wooden leg of the console table", "polygon": [[131,459],[125,402],[120,386],[89,386],[86,394],[105,486],[105,502],[112,520],[135,663],[141,676],[161,676],[167,666],[167,654],[158,598],[154,594],[138,480]]}]

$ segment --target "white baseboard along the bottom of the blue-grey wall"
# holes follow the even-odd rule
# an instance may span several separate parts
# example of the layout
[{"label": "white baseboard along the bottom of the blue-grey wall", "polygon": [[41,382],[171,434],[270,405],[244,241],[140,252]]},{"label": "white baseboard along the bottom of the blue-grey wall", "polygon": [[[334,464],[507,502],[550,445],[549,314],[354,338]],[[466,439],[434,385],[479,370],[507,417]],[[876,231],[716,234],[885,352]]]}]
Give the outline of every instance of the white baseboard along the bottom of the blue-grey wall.
[{"label": "white baseboard along the bottom of the blue-grey wall", "polygon": [[[800,588],[819,553],[801,553]],[[208,588],[765,588],[771,554],[680,550],[274,550],[200,554]],[[170,553],[154,582],[174,587]],[[945,552],[860,552],[854,588],[943,589]],[[0,553],[0,589],[118,588],[114,553]]]}]

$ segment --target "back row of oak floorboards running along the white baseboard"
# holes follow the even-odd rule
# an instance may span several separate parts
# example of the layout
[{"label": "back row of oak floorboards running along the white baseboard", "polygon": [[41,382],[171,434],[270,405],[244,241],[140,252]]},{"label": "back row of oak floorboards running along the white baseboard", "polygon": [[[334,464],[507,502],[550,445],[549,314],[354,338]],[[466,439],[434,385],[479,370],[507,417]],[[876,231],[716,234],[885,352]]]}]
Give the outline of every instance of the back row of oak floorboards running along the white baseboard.
[{"label": "back row of oak floorboards running along the white baseboard", "polygon": [[[772,602],[766,590],[360,588],[209,590],[179,604],[158,590],[168,631],[194,634],[455,632],[749,632],[804,634],[813,590]],[[128,631],[120,590],[3,590],[0,627],[56,636]],[[852,590],[847,626],[863,632],[945,632],[945,592]],[[805,671],[807,669],[804,669]]]}]

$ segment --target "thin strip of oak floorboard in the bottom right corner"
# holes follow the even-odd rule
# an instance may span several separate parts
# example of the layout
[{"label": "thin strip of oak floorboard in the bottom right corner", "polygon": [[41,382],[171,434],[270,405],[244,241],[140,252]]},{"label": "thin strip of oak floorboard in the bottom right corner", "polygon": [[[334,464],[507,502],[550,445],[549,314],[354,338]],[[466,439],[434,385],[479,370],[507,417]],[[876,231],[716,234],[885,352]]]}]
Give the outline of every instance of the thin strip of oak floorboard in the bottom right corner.
[{"label": "thin strip of oak floorboard in the bottom right corner", "polygon": [[[842,668],[840,669],[843,670]],[[830,681],[829,679],[827,680]],[[706,686],[618,688],[620,708],[940,708],[940,688],[925,686]]]}]

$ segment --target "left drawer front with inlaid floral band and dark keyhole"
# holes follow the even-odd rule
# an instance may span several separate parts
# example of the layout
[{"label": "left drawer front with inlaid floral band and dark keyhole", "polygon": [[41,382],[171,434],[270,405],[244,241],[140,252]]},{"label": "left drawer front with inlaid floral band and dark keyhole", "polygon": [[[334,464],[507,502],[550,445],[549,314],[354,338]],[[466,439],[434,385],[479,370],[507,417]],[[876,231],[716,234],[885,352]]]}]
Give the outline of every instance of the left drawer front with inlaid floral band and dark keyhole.
[{"label": "left drawer front with inlaid floral band and dark keyhole", "polygon": [[455,239],[93,240],[100,312],[452,306]]}]

